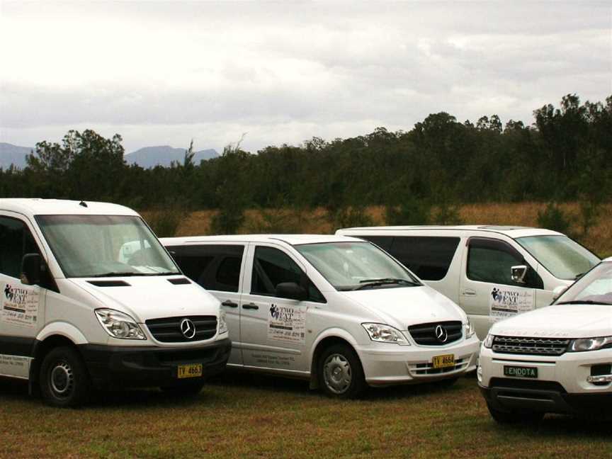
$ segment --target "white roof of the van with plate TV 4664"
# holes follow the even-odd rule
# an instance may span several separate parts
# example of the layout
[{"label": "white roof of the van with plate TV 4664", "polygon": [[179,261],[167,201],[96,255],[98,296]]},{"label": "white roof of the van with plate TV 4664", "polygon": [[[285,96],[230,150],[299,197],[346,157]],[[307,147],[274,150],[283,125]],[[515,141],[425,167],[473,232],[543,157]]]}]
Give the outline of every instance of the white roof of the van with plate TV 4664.
[{"label": "white roof of the van with plate TV 4664", "polygon": [[329,234],[232,234],[227,236],[165,237],[162,244],[186,244],[193,242],[285,242],[289,245],[321,244],[323,242],[363,242],[356,237]]}]

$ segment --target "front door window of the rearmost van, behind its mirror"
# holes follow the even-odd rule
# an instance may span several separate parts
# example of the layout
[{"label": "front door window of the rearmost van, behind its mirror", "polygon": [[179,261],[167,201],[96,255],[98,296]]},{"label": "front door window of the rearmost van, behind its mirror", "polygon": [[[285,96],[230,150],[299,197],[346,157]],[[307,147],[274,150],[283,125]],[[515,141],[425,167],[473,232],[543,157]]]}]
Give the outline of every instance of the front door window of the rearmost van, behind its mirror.
[{"label": "front door window of the rearmost van, behind its mirror", "polygon": [[542,278],[528,265],[526,283],[516,283],[511,279],[510,268],[521,264],[527,265],[523,256],[505,242],[485,238],[470,239],[466,272],[470,280],[543,288]]}]

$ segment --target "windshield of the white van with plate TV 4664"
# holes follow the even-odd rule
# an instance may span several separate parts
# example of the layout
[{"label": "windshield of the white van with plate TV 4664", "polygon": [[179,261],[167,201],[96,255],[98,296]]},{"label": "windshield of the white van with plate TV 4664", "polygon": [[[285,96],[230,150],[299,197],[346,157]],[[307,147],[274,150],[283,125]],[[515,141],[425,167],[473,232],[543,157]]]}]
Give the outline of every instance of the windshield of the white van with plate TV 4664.
[{"label": "windshield of the white van with plate TV 4664", "polygon": [[406,268],[369,242],[300,244],[295,249],[336,290],[422,285]]}]

